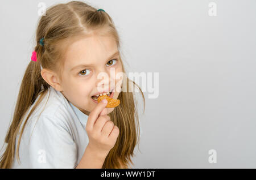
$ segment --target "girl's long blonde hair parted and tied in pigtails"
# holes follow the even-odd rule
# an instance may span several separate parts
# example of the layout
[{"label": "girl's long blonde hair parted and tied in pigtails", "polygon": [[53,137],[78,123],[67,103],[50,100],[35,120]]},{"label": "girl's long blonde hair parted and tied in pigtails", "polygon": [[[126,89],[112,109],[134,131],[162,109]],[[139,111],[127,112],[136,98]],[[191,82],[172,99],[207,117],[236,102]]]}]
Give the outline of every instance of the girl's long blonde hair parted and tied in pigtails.
[{"label": "girl's long blonde hair parted and tied in pigtails", "polygon": [[[28,118],[46,96],[49,89],[49,84],[44,81],[40,74],[40,65],[60,75],[63,66],[63,62],[61,63],[60,59],[63,59],[63,52],[68,47],[69,43],[67,42],[71,39],[74,40],[74,37],[86,35],[86,32],[89,30],[97,32],[99,29],[104,30],[102,31],[104,35],[114,37],[119,49],[118,32],[107,12],[97,11],[96,8],[80,1],[60,3],[47,8],[46,15],[40,18],[38,28],[36,29],[37,43],[35,51],[38,61],[30,61],[24,73],[18,100],[16,101],[13,121],[5,137],[7,145],[0,158],[0,168],[12,167],[16,136],[22,125],[22,119],[30,106],[34,104],[36,98],[38,98],[38,101],[36,101],[36,104],[28,113],[20,131],[16,148],[16,157],[19,160],[19,144],[24,127]],[[44,37],[44,46],[39,44],[42,37]],[[122,62],[122,58],[120,60]],[[123,68],[123,72],[125,72],[125,68]],[[129,84],[132,82],[131,84],[139,88],[145,105],[141,88],[128,78],[126,82],[127,84],[122,84],[122,87],[123,85],[129,87]],[[120,105],[114,108],[113,112],[109,115],[114,124],[119,128],[119,136],[114,147],[105,158],[102,168],[121,168],[123,166],[127,168],[130,163],[133,164],[131,157],[134,156],[135,145],[139,144],[139,117],[134,93],[121,91],[118,98],[121,101]]]}]

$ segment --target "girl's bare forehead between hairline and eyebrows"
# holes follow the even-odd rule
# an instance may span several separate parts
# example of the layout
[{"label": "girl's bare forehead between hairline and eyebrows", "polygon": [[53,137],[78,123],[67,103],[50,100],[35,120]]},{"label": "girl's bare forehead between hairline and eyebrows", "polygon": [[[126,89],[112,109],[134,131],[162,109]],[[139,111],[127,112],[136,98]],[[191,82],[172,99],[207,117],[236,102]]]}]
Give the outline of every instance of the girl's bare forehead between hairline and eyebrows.
[{"label": "girl's bare forehead between hairline and eyebrows", "polygon": [[107,60],[118,51],[117,43],[111,36],[92,35],[77,38],[65,52],[64,68],[71,69],[80,64],[97,64]]}]

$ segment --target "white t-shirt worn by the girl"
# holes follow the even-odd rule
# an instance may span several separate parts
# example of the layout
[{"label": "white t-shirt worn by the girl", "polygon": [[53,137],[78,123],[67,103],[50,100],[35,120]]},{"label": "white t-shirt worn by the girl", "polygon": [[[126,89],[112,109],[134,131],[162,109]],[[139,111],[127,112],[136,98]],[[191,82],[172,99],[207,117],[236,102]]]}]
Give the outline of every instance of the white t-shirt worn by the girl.
[{"label": "white t-shirt worn by the girl", "polygon": [[50,87],[24,128],[19,146],[20,164],[16,160],[19,135],[16,137],[12,168],[76,168],[89,143],[85,131],[87,119],[88,115]]}]

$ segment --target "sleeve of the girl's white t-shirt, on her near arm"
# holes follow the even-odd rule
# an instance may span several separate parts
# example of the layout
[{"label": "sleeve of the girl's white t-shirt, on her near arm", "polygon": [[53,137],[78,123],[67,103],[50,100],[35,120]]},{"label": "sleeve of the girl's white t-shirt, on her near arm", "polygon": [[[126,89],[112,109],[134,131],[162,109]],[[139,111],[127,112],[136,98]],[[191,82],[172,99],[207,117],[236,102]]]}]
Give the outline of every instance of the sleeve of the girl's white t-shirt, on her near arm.
[{"label": "sleeve of the girl's white t-shirt, on her near arm", "polygon": [[64,122],[40,115],[28,144],[30,168],[75,168],[77,148]]}]

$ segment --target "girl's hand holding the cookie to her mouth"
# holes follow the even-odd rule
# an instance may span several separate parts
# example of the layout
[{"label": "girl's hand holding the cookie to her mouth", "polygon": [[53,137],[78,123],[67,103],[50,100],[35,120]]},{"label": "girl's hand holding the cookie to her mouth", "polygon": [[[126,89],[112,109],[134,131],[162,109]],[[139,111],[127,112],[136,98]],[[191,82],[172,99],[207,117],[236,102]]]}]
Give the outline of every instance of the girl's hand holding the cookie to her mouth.
[{"label": "girl's hand holding the cookie to her mouth", "polygon": [[119,128],[110,121],[105,108],[108,101],[100,101],[90,112],[85,130],[88,134],[88,147],[94,151],[108,155],[117,141]]}]

